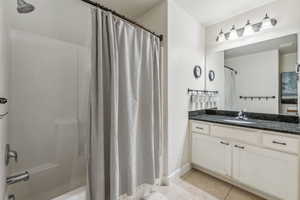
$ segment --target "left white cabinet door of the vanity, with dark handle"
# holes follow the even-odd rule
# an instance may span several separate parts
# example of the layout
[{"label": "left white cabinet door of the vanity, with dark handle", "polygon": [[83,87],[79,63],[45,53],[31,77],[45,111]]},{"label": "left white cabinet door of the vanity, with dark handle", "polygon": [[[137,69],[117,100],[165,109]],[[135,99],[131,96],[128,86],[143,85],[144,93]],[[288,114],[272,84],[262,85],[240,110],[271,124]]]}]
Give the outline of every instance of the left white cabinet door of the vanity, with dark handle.
[{"label": "left white cabinet door of the vanity, with dark handle", "polygon": [[192,162],[224,176],[231,176],[231,145],[223,140],[193,134]]}]

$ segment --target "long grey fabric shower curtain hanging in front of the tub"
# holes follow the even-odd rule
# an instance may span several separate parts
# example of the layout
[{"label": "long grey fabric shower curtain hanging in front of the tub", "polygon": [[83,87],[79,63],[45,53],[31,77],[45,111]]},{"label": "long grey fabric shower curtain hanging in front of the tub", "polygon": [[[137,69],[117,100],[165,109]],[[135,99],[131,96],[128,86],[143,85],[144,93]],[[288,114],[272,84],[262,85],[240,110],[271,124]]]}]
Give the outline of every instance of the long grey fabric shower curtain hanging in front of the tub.
[{"label": "long grey fabric shower curtain hanging in front of the tub", "polygon": [[160,40],[92,9],[90,200],[117,200],[160,177]]}]

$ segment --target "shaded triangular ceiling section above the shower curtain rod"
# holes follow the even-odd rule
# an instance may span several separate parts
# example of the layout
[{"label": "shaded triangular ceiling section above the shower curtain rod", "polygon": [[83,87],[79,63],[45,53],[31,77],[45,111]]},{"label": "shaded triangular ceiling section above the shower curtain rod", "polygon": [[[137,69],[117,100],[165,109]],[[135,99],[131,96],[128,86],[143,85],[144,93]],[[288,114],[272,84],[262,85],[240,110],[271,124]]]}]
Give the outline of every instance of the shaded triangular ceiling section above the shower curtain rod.
[{"label": "shaded triangular ceiling section above the shower curtain rod", "polygon": [[161,0],[95,0],[129,18],[136,18],[154,7]]}]

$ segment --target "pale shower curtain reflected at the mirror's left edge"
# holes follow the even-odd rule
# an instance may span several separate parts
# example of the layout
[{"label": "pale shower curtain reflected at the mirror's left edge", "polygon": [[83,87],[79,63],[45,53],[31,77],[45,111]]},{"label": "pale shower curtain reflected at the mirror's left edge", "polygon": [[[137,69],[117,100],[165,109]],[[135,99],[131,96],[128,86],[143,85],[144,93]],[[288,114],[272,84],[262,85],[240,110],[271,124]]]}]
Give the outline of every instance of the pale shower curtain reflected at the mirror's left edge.
[{"label": "pale shower curtain reflected at the mirror's left edge", "polygon": [[237,94],[236,94],[236,80],[235,72],[232,70],[225,70],[225,109],[235,110],[237,107]]}]

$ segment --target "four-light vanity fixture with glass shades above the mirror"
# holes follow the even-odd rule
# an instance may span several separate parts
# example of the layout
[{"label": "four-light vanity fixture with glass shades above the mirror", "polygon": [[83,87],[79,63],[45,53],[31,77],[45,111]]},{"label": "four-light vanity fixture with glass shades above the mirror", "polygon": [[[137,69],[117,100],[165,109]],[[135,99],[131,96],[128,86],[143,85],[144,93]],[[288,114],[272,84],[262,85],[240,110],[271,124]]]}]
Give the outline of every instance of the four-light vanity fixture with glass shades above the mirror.
[{"label": "four-light vanity fixture with glass shades above the mirror", "polygon": [[251,24],[250,20],[247,21],[246,25],[242,28],[236,29],[235,25],[232,26],[231,30],[224,33],[223,30],[218,34],[216,41],[224,42],[226,40],[235,40],[243,36],[253,35],[255,32],[259,32],[265,29],[276,26],[277,19],[270,18],[268,14],[264,17],[261,22]]}]

